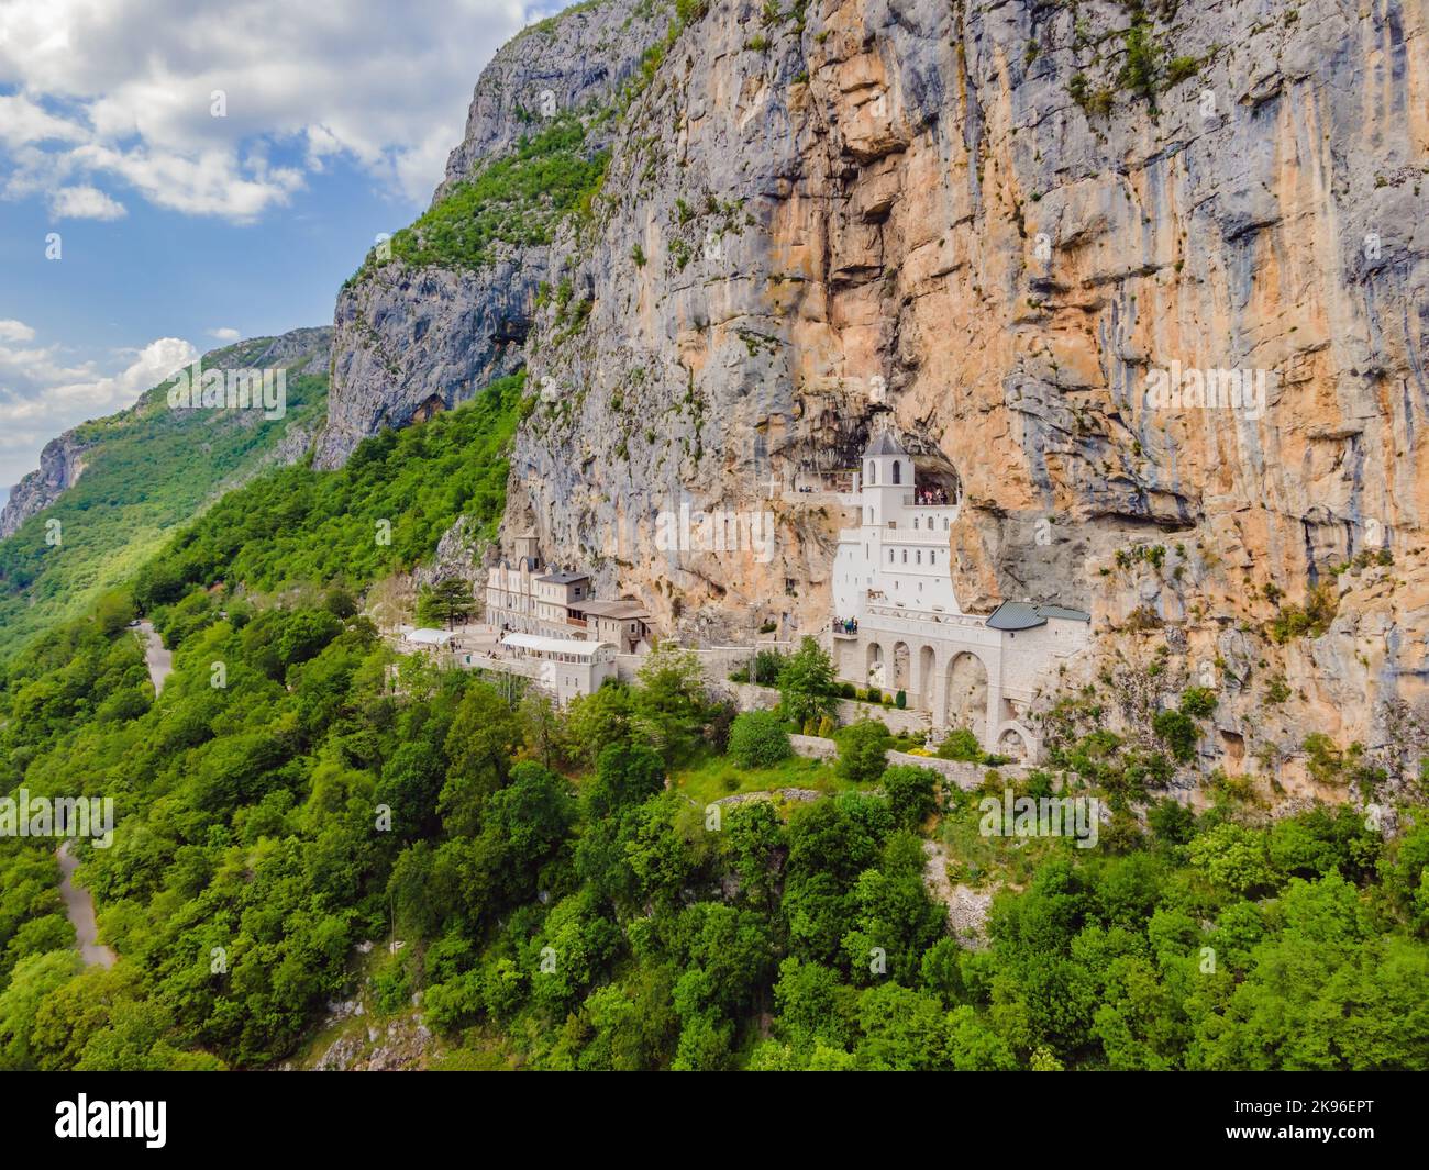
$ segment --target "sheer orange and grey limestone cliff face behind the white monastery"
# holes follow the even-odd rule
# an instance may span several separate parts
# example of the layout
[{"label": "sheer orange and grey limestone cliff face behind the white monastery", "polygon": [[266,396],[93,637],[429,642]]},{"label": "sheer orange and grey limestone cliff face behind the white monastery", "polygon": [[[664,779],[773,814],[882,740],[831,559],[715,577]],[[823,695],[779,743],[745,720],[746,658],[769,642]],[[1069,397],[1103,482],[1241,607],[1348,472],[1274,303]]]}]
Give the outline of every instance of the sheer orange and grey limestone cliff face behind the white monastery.
[{"label": "sheer orange and grey limestone cliff face behind the white monastery", "polygon": [[[1308,731],[1405,763],[1429,666],[1426,17],[712,4],[617,121],[594,223],[536,261],[573,301],[529,319],[544,401],[507,531],[667,627],[813,630],[839,501],[782,489],[852,466],[883,416],[963,486],[965,607],[1092,609],[1085,681],[1122,706],[1212,684],[1208,766],[1315,790]],[[472,126],[457,173],[496,141],[476,103]],[[399,360],[429,377],[426,351]],[[1263,409],[1205,409],[1222,370]],[[1149,393],[1163,371],[1185,397]],[[770,513],[775,539],[672,549],[682,503]],[[1308,637],[1286,606],[1315,586]]]}]

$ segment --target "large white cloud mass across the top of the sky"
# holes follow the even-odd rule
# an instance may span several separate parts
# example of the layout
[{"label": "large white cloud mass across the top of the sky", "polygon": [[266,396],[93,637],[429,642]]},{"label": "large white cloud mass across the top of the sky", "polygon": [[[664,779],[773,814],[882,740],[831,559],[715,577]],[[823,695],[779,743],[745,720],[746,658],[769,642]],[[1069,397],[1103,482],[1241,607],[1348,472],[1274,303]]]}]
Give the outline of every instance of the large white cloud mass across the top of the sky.
[{"label": "large white cloud mass across the top of the sky", "polygon": [[[6,0],[0,87],[16,93],[0,97],[13,163],[3,193],[49,196],[79,180],[74,190],[99,194],[100,180],[159,207],[250,221],[347,157],[424,204],[482,64],[534,7],[347,0],[334,16],[231,0],[214,20],[177,0]],[[226,117],[210,113],[216,90]],[[292,161],[274,166],[272,151]]]}]

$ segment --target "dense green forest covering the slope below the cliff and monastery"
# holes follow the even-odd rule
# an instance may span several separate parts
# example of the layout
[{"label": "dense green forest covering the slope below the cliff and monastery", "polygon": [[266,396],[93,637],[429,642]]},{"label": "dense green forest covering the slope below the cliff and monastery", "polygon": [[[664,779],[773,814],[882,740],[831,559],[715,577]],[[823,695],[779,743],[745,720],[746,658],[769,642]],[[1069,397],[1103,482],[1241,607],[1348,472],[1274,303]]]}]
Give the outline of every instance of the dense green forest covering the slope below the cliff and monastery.
[{"label": "dense green forest covering the slope below the cliff and monastery", "polygon": [[[566,710],[396,654],[360,599],[457,516],[494,530],[522,394],[230,493],[3,669],[0,790],[116,801],[79,851],[120,961],[80,966],[53,841],[0,840],[0,1067],[272,1067],[354,993],[443,1069],[1429,1067],[1429,809],[1193,814],[1159,790],[1200,696],[1165,754],[1079,720],[1016,780],[1107,801],[1080,850],[980,834],[982,791],[867,723],[795,760],[833,709],[812,644],[773,714],[676,647]],[[714,803],[790,777],[819,796]],[[986,939],[929,849],[996,891]]]}]

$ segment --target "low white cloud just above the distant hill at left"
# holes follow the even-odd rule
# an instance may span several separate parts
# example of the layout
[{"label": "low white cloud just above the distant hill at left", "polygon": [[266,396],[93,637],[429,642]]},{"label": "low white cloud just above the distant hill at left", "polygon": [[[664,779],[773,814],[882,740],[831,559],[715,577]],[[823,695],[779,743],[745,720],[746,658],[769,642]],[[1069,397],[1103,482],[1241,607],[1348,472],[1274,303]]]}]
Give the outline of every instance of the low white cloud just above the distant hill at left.
[{"label": "low white cloud just above the distant hill at left", "polygon": [[33,340],[29,326],[0,321],[0,483],[6,484],[37,467],[40,449],[60,431],[130,406],[199,356],[177,337],[77,364],[66,364],[57,344],[9,344]]}]

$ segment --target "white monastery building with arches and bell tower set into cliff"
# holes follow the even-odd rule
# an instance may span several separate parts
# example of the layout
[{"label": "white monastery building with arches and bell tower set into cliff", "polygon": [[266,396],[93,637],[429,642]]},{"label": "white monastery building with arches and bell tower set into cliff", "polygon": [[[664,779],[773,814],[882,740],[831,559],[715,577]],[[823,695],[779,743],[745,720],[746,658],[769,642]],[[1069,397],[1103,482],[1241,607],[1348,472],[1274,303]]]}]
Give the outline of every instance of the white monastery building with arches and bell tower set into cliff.
[{"label": "white monastery building with arches and bell tower set into cliff", "polygon": [[1026,719],[1039,684],[1086,647],[1090,616],[1032,601],[963,613],[953,590],[949,533],[956,484],[922,481],[889,433],[862,457],[857,526],[839,533],[833,569],[833,659],[860,687],[906,691],[935,730],[969,727],[987,751],[1035,757]]}]

